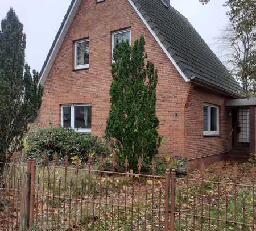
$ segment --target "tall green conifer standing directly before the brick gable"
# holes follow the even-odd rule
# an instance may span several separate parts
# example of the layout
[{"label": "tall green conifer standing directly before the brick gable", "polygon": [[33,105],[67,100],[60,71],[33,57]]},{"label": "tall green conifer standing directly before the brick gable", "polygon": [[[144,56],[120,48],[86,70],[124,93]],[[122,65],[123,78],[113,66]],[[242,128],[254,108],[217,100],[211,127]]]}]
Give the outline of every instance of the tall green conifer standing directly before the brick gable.
[{"label": "tall green conifer standing directly before the brick gable", "polygon": [[113,52],[106,138],[122,162],[128,158],[134,171],[139,158],[142,167],[151,163],[160,142],[155,108],[158,73],[152,62],[145,64],[146,58],[143,36],[132,47],[128,41],[117,43]]}]

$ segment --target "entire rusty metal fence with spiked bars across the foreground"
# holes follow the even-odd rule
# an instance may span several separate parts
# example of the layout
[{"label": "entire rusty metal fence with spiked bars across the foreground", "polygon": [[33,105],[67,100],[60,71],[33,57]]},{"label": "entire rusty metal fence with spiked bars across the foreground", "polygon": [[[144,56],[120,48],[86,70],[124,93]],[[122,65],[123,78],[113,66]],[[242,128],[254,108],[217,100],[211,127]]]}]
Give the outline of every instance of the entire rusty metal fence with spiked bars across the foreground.
[{"label": "entire rusty metal fence with spiked bars across the foreground", "polygon": [[[84,167],[1,163],[0,230],[255,230],[251,184],[102,171]],[[140,163],[141,165],[141,163]],[[140,169],[141,166],[139,166]]]}]

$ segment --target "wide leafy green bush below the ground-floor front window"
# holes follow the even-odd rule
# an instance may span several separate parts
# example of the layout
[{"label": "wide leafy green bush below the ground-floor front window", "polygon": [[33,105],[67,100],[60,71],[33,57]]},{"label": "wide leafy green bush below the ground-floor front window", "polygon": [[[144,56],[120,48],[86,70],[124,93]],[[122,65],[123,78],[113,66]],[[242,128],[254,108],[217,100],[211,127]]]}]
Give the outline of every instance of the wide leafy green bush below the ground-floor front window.
[{"label": "wide leafy green bush below the ground-floor front window", "polygon": [[42,160],[42,153],[46,152],[49,161],[57,153],[59,160],[64,160],[67,155],[69,161],[78,157],[82,162],[88,160],[90,153],[93,156],[104,153],[109,154],[107,146],[96,136],[84,135],[71,128],[33,128],[24,139],[24,149],[28,158]]}]

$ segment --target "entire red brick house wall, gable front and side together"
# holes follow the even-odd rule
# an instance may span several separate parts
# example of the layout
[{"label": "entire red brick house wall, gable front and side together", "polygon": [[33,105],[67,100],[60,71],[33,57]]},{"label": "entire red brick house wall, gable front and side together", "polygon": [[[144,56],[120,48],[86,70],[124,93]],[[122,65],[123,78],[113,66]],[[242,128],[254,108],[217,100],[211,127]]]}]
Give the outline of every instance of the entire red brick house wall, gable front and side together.
[{"label": "entire red brick house wall, gable front and side together", "polygon": [[[164,137],[160,153],[198,157],[224,152],[228,129],[222,111],[224,98],[183,80],[127,0],[106,0],[100,4],[95,4],[95,0],[82,1],[44,84],[41,125],[60,126],[61,104],[91,103],[92,134],[104,135],[110,107],[112,31],[127,27],[131,28],[132,41],[140,35],[145,37],[148,59],[158,69],[157,113],[159,132]],[[73,41],[84,37],[90,40],[90,68],[73,71]],[[202,136],[204,97],[206,102],[222,106],[222,137]]]}]

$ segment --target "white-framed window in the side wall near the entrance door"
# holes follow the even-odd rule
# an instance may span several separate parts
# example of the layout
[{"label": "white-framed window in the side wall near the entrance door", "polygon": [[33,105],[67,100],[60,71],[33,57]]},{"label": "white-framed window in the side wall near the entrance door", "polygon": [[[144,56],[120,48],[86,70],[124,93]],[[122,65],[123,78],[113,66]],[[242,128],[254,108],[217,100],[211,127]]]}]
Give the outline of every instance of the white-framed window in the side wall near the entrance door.
[{"label": "white-framed window in the side wall near the entrance door", "polygon": [[212,104],[204,104],[204,135],[219,135],[220,108]]}]

